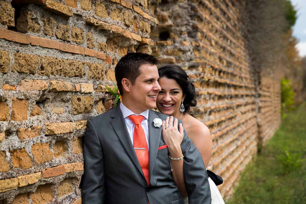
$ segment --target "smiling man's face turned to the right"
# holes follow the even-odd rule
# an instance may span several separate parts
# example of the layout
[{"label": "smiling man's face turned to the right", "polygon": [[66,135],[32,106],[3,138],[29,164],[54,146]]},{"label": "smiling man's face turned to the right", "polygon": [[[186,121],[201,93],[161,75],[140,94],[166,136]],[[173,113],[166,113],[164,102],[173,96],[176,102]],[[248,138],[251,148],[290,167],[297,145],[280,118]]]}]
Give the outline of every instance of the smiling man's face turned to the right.
[{"label": "smiling man's face turned to the right", "polygon": [[134,112],[142,113],[147,109],[155,108],[156,97],[161,90],[157,80],[158,69],[155,65],[144,64],[139,68],[140,75],[131,85],[130,100],[133,101]]}]

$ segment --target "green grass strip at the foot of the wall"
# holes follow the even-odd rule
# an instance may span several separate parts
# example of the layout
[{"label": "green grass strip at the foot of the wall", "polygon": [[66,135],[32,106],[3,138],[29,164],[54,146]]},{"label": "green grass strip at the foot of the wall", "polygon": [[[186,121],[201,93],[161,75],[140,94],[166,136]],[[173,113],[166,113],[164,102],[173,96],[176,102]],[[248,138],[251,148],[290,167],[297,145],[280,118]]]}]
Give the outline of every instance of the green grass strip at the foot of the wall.
[{"label": "green grass strip at the foot of the wall", "polygon": [[248,164],[227,204],[306,203],[305,105],[287,114],[271,140]]}]

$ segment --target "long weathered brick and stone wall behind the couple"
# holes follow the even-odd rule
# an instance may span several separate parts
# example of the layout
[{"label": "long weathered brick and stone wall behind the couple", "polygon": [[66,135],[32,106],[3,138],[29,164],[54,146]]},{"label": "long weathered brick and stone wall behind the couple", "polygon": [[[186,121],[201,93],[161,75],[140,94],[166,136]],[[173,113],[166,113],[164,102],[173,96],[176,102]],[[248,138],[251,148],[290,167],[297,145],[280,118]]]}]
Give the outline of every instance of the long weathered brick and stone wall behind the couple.
[{"label": "long weathered brick and stone wall behind the couple", "polygon": [[0,0],[0,203],[81,203],[88,117],[127,52],[177,63],[211,130],[228,197],[280,121],[276,75],[252,76],[236,1]]}]

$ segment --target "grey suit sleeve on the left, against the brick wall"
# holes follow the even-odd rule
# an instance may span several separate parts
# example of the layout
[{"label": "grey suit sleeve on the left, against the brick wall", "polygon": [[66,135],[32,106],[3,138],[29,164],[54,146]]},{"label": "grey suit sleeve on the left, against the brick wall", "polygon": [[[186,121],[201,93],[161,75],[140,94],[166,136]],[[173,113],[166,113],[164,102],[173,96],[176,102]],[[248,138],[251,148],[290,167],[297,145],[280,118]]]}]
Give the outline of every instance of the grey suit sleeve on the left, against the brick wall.
[{"label": "grey suit sleeve on the left, against the brick wall", "polygon": [[91,119],[87,120],[84,138],[84,177],[82,203],[103,203],[103,150]]}]

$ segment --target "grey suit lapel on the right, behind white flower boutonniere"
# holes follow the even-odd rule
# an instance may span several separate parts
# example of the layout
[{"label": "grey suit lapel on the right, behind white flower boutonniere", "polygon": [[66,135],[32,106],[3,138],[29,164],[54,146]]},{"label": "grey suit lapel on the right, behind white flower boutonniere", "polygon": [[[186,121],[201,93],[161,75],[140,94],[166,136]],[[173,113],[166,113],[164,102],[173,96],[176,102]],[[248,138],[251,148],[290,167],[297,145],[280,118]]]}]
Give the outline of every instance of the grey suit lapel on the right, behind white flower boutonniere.
[{"label": "grey suit lapel on the right, behind white flower boutonniere", "polygon": [[162,127],[154,126],[153,120],[159,118],[155,111],[149,110],[149,175],[151,178],[155,159],[158,151],[160,138],[162,135]]}]

